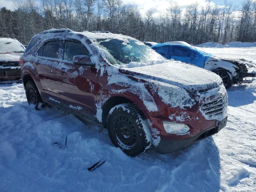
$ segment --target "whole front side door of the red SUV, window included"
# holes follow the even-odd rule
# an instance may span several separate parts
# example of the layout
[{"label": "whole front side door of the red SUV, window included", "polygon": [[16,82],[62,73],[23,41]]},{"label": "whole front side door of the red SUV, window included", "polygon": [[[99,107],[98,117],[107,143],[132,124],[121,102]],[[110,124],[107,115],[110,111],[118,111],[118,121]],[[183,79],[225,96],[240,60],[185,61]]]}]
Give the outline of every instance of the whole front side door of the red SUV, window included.
[{"label": "whole front side door of the red SUV, window included", "polygon": [[89,56],[88,50],[78,41],[66,41],[63,60],[58,65],[60,99],[70,110],[96,114],[98,88],[97,70],[93,66],[74,64],[74,56]]}]

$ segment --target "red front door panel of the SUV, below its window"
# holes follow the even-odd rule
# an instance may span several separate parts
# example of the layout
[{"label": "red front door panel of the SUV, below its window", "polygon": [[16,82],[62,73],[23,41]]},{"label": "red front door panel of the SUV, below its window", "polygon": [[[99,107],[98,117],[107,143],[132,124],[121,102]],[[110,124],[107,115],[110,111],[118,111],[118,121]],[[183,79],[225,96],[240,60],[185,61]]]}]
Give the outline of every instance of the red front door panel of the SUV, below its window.
[{"label": "red front door panel of the SUV, below its window", "polygon": [[60,98],[74,110],[96,114],[97,70],[90,66],[60,62],[58,67]]}]

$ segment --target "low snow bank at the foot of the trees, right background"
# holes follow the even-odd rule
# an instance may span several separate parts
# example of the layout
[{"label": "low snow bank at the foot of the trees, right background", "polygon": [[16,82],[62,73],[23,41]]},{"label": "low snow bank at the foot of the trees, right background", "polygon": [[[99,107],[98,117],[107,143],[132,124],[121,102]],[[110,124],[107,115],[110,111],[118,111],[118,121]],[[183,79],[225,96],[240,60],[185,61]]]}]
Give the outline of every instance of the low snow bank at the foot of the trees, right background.
[{"label": "low snow bank at the foot of the trees, right background", "polygon": [[256,47],[256,42],[229,42],[227,44],[219,44],[216,42],[207,42],[202,43],[199,45],[194,45],[196,47],[216,47],[216,48],[223,48],[223,47]]}]

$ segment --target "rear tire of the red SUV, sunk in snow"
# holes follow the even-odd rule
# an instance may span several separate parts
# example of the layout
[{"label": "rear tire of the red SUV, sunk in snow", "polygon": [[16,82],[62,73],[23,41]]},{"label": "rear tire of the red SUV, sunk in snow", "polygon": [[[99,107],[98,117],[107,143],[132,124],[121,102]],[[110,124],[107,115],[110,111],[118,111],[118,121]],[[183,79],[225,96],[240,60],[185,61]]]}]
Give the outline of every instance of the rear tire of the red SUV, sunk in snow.
[{"label": "rear tire of the red SUV, sunk in snow", "polygon": [[25,87],[25,91],[29,105],[34,105],[36,110],[40,110],[46,107],[47,104],[45,102],[42,102],[41,96],[34,82],[28,81]]}]

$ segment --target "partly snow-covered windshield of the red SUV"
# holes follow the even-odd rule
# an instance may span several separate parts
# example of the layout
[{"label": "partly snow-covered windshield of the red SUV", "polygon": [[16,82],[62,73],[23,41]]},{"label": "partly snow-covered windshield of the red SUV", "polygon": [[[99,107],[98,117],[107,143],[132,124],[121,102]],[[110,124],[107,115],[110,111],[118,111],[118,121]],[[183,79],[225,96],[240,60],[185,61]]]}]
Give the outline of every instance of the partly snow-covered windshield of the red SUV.
[{"label": "partly snow-covered windshield of the red SUV", "polygon": [[[98,43],[110,56],[112,64],[129,64],[130,62],[156,62],[164,58],[152,48],[136,40],[100,39]],[[114,63],[113,63],[114,62]]]}]

